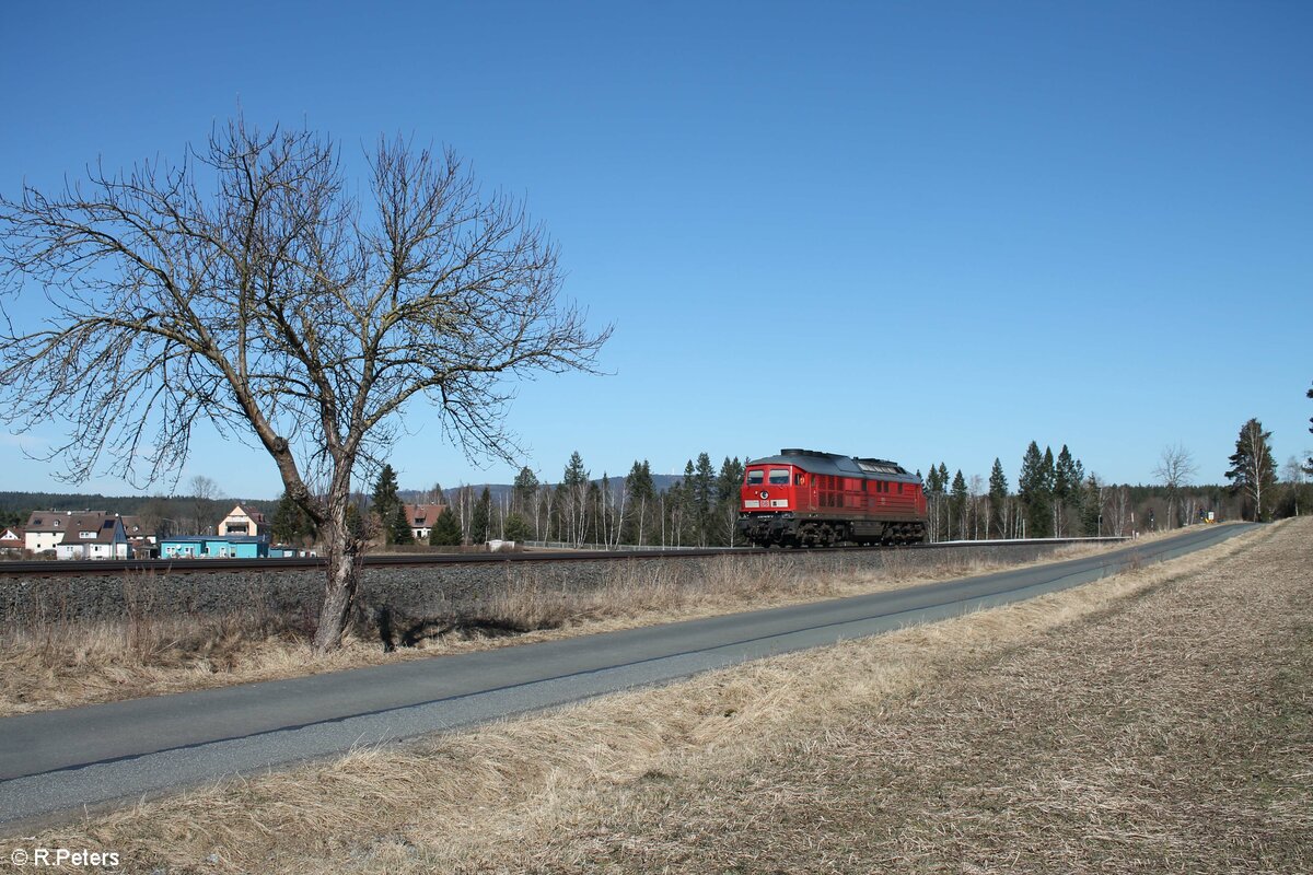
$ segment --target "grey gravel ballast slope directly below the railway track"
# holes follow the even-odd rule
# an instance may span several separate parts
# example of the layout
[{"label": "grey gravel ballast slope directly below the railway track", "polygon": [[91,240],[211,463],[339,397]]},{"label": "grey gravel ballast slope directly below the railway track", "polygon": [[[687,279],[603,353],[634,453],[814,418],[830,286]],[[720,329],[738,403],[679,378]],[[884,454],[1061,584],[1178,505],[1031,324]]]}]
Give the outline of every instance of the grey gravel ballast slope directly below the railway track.
[{"label": "grey gravel ballast slope directly below the railway track", "polygon": [[[365,567],[357,628],[376,628],[379,611],[397,618],[478,619],[494,605],[525,593],[538,600],[567,598],[626,588],[704,588],[726,573],[785,577],[861,572],[916,573],[960,564],[1016,565],[1048,558],[1066,544],[962,544],[935,550],[780,551],[726,556],[650,555],[584,561],[444,561]],[[318,611],[323,572],[316,568],[222,571],[117,569],[68,575],[51,563],[47,572],[13,573],[0,564],[0,628],[33,630],[49,623],[118,622],[134,618],[185,619],[228,615],[303,622]]]}]

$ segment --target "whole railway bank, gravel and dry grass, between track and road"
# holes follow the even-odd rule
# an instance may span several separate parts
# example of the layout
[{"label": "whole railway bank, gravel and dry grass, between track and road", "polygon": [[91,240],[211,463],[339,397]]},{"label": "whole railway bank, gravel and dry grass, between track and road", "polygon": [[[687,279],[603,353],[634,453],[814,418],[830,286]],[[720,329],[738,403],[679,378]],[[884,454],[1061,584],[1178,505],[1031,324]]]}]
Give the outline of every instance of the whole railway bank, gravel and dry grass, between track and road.
[{"label": "whole railway bank, gravel and dry grass, between track and road", "polygon": [[1100,547],[366,565],[357,622],[316,657],[314,569],[0,576],[0,716],[869,594],[1090,550]]}]

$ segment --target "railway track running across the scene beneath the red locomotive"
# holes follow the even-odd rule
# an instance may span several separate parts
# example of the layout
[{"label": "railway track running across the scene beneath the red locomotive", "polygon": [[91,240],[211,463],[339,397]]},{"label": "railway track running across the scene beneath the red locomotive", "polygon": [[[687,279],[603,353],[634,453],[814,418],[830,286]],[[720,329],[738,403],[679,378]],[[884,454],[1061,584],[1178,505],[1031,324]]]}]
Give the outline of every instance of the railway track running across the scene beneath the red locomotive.
[{"label": "railway track running across the scene beneath the red locomotive", "polygon": [[[779,550],[765,547],[709,547],[699,550],[551,550],[517,551],[495,554],[369,554],[364,558],[366,568],[427,567],[427,565],[473,565],[484,563],[523,561],[616,561],[616,560],[662,560],[699,559],[712,556],[764,556],[797,555],[823,552],[878,552],[886,550],[961,550],[989,547],[1016,547],[1025,544],[1062,546],[1074,543],[1117,543],[1128,538],[1036,538],[1012,540],[949,540],[940,543],[914,544],[911,547],[830,547],[818,550]],[[79,576],[122,572],[155,573],[222,573],[232,571],[305,571],[323,568],[323,556],[289,559],[64,559],[64,560],[17,560],[0,561],[0,576]]]}]

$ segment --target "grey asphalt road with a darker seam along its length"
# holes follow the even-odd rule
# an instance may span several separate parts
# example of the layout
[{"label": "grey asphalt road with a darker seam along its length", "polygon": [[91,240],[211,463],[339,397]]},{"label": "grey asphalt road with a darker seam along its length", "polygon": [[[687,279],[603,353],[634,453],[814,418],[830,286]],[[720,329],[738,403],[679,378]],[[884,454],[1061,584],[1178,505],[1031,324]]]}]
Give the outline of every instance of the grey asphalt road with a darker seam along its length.
[{"label": "grey asphalt road with a darker seam along its length", "polygon": [[4,718],[0,832],[956,617],[1098,580],[1136,555],[1142,563],[1180,556],[1250,527],[1196,527],[1099,556],[872,596]]}]

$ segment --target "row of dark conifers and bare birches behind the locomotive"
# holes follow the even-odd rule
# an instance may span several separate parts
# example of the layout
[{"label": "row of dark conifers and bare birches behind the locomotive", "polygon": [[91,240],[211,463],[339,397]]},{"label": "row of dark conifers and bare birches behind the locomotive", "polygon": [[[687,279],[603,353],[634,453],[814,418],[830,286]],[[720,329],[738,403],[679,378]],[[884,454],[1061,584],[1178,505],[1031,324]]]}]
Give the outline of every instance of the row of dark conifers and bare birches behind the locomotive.
[{"label": "row of dark conifers and bare birches behind the locomotive", "polygon": [[[1310,390],[1313,397],[1313,390]],[[1310,420],[1313,421],[1313,420]],[[1313,428],[1309,429],[1313,432]],[[1229,458],[1229,485],[1196,484],[1199,466],[1183,445],[1162,450],[1148,485],[1112,484],[1087,471],[1067,445],[1054,454],[1031,441],[1012,488],[1001,458],[987,479],[949,475],[945,462],[916,471],[926,489],[931,540],[1003,538],[1124,537],[1134,531],[1174,529],[1200,519],[1270,519],[1313,508],[1313,458],[1291,459],[1278,474],[1271,433],[1257,418],[1239,432]],[[482,489],[446,491],[435,484],[421,497],[444,505],[429,527],[431,546],[481,544],[491,539],[557,542],[582,547],[720,547],[737,546],[735,521],[746,463],[725,457],[720,467],[709,453],[688,459],[683,476],[658,488],[646,459],[629,474],[595,479],[579,451],[570,455],[561,479],[544,481],[521,467],[515,483]],[[494,492],[495,489],[495,492]],[[397,472],[385,464],[370,496],[360,495],[348,522],[366,540],[415,543],[406,518]],[[310,543],[312,521],[286,495],[273,513],[276,540]]]}]

